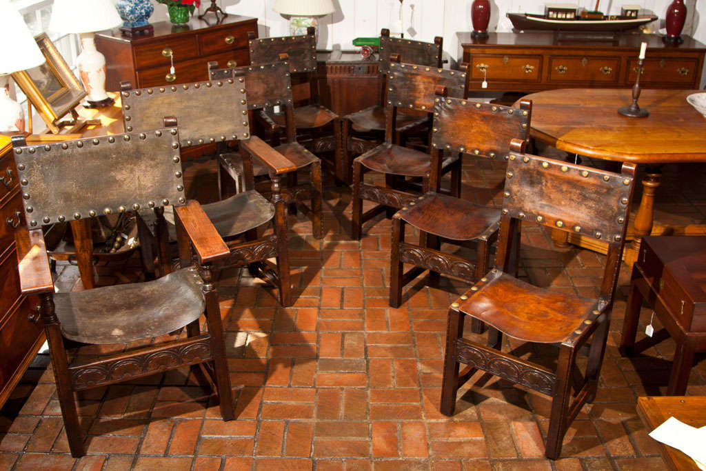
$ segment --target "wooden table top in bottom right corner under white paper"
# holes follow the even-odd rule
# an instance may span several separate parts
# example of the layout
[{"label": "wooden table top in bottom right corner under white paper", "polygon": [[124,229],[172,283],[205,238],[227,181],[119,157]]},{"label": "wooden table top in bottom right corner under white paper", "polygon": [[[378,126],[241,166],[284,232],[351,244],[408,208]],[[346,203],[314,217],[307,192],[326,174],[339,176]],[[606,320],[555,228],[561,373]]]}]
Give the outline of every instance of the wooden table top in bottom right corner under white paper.
[{"label": "wooden table top in bottom right corner under white paper", "polygon": [[[647,432],[654,430],[669,417],[675,417],[691,427],[706,425],[706,396],[648,396],[638,398],[638,415],[647,426]],[[652,439],[650,439],[652,440]],[[664,443],[659,443],[662,458],[674,470],[698,470],[694,460],[681,451]]]}]

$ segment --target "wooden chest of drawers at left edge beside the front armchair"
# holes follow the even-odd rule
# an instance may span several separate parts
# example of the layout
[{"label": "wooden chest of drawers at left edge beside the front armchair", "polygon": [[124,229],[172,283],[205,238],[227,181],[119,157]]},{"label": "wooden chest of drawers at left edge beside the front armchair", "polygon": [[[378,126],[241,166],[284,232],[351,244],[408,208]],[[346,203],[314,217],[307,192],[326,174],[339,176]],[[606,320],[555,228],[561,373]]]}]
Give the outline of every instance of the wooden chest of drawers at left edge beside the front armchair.
[{"label": "wooden chest of drawers at left edge beside the front armchair", "polygon": [[15,227],[24,224],[17,169],[8,139],[0,141],[0,407],[44,342],[37,299],[20,295]]}]

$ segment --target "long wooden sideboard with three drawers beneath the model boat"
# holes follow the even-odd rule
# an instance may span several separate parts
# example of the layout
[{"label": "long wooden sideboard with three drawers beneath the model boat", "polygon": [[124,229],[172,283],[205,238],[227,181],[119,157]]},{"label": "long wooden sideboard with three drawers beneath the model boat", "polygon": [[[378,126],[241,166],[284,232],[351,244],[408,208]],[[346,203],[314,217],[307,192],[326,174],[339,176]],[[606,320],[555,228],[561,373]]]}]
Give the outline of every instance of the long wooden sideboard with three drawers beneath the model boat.
[{"label": "long wooden sideboard with three drawers beneath the model boat", "polygon": [[611,40],[578,40],[553,32],[496,32],[487,39],[456,33],[460,66],[471,64],[471,88],[537,92],[555,88],[623,88],[635,82],[640,42],[647,58],[644,88],[699,88],[706,44],[683,37],[678,46],[657,35],[624,34]]}]

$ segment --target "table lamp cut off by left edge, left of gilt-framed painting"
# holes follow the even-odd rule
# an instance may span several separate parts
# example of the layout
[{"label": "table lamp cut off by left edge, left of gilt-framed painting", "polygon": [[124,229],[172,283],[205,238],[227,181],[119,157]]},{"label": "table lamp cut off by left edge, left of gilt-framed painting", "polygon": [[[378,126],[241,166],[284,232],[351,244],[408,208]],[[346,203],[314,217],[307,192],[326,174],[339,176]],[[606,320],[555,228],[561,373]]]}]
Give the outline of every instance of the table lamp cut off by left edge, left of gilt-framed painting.
[{"label": "table lamp cut off by left edge, left of gilt-framed painting", "polygon": [[24,131],[25,114],[10,97],[9,74],[40,66],[47,59],[27,23],[8,0],[0,0],[0,44],[7,46],[0,61],[0,132]]}]

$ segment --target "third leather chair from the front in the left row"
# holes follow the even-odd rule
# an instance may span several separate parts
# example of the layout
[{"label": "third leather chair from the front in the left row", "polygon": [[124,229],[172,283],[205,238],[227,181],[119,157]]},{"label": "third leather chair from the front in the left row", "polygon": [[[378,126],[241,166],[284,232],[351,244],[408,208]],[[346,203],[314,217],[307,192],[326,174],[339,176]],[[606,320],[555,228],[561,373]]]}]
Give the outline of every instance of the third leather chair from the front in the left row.
[{"label": "third leather chair from the front in the left row", "polygon": [[[306,208],[311,219],[311,232],[313,237],[321,239],[323,237],[323,186],[321,182],[321,160],[307,150],[304,145],[298,143],[296,138],[297,130],[294,127],[294,108],[292,101],[292,82],[289,78],[289,58],[287,54],[282,54],[279,62],[264,64],[261,66],[249,66],[239,68],[218,69],[217,62],[208,63],[208,79],[211,81],[227,81],[235,76],[242,76],[248,84],[245,89],[245,96],[250,110],[265,110],[273,105],[282,108],[285,115],[285,143],[275,146],[275,150],[287,157],[297,168],[287,174],[289,183],[282,191],[282,197],[287,203],[302,202],[309,200],[311,205]],[[266,116],[266,115],[265,115]],[[268,167],[261,165],[258,161],[253,162],[253,175],[255,177],[265,177],[268,175]],[[297,184],[297,171],[309,169],[309,183]],[[229,178],[237,181],[239,175],[244,170],[231,155],[220,155],[218,166],[218,184],[221,198],[225,196],[223,189],[225,182],[222,177],[227,174]]]}]

